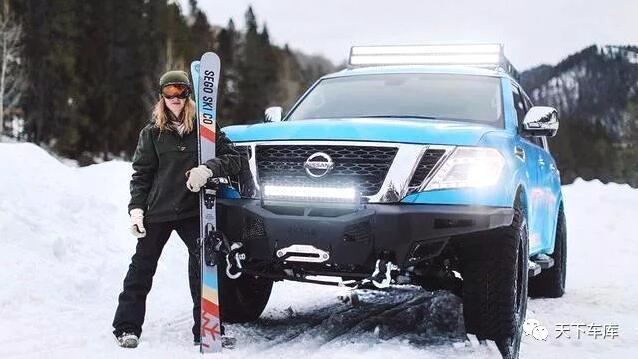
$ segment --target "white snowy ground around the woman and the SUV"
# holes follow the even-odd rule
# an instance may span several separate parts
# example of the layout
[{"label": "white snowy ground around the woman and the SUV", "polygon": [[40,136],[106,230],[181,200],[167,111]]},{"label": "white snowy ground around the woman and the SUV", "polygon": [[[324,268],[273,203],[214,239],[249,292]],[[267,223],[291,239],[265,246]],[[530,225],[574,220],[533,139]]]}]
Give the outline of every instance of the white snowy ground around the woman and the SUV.
[{"label": "white snowy ground around the woman and the SUV", "polygon": [[[0,143],[0,358],[196,358],[191,345],[186,249],[169,240],[148,298],[140,347],[110,333],[117,295],[135,248],[128,233],[130,164],[61,164],[31,144]],[[530,300],[527,316],[549,330],[523,339],[523,358],[635,358],[638,352],[638,190],[577,181],[564,187],[569,238],[567,293]],[[262,318],[231,325],[224,357],[498,357],[472,346],[461,303],[446,292],[360,291],[277,283]],[[615,339],[555,336],[557,324],[619,326]],[[593,334],[593,333],[589,333]]]}]

